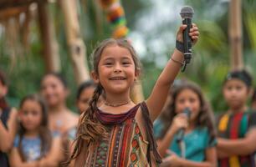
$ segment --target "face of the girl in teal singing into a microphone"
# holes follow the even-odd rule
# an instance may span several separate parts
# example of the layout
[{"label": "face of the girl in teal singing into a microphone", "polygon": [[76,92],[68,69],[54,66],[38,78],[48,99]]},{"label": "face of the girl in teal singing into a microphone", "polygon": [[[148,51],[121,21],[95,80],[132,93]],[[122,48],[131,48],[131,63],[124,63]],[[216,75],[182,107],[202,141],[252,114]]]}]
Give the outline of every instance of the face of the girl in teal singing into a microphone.
[{"label": "face of the girl in teal singing into a microphone", "polygon": [[176,113],[180,114],[184,109],[191,110],[191,120],[195,120],[200,111],[200,99],[192,89],[183,89],[175,101]]}]

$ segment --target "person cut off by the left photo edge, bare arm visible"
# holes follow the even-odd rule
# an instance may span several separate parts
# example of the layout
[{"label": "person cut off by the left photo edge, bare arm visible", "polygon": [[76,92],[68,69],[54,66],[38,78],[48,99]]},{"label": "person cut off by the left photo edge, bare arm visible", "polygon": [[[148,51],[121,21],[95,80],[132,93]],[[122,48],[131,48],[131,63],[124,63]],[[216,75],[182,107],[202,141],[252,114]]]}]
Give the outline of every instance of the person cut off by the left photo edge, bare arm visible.
[{"label": "person cut off by the left photo edge, bare arm visible", "polygon": [[16,131],[16,109],[11,109],[5,99],[8,86],[4,74],[0,71],[0,164],[8,167],[6,152],[11,149]]}]

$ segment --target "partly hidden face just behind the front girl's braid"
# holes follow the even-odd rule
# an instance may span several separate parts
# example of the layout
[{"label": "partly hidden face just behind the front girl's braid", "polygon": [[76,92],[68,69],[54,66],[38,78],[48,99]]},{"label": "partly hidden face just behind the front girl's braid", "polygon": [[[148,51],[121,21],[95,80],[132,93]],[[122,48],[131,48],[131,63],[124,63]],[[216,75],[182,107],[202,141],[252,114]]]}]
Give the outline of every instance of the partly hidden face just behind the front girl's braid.
[{"label": "partly hidden face just behind the front girl's braid", "polygon": [[89,107],[89,102],[90,99],[93,97],[94,92],[94,87],[89,87],[82,91],[79,99],[77,100],[77,108],[79,109],[80,113],[83,113]]}]

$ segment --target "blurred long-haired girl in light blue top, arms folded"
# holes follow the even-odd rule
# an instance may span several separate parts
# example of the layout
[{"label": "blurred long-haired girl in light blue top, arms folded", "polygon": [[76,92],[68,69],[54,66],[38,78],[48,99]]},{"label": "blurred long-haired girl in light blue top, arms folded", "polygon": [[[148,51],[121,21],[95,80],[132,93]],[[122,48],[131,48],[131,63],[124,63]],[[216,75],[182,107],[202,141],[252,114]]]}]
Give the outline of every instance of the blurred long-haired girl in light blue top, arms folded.
[{"label": "blurred long-haired girl in light blue top, arms folded", "polygon": [[36,95],[26,96],[18,111],[18,134],[10,153],[13,167],[58,166],[61,154],[60,138],[54,138],[48,128],[47,111]]}]

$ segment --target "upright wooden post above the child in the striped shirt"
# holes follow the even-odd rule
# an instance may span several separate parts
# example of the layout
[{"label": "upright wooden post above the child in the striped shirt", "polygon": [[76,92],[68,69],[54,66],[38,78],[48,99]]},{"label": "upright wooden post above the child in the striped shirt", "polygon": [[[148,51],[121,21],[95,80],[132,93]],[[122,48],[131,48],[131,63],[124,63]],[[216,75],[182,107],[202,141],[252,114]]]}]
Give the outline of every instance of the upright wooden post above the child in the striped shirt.
[{"label": "upright wooden post above the child in the striped shirt", "polygon": [[231,0],[229,3],[229,43],[231,68],[243,68],[242,41],[242,5],[241,0]]}]

